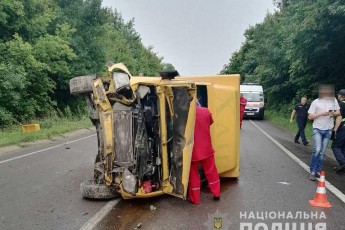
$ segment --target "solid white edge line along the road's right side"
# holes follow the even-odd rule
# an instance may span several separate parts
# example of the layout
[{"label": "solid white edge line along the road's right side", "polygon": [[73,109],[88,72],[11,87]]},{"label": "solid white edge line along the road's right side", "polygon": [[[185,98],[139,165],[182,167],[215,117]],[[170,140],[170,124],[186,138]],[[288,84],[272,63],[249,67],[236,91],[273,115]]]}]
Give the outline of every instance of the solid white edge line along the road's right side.
[{"label": "solid white edge line along the road's right side", "polygon": [[[298,157],[296,157],[292,152],[282,146],[278,141],[273,139],[268,133],[266,133],[263,129],[261,129],[257,124],[255,124],[252,120],[250,122],[258,128],[268,139],[270,139],[274,144],[276,144],[281,150],[283,150],[289,157],[291,157],[294,161],[296,161],[302,168],[304,168],[309,173],[309,166],[306,165],[303,161],[301,161]],[[336,195],[342,202],[345,203],[345,195],[335,186],[333,186],[330,182],[326,180],[326,187],[329,191],[331,191],[334,195]]]}]

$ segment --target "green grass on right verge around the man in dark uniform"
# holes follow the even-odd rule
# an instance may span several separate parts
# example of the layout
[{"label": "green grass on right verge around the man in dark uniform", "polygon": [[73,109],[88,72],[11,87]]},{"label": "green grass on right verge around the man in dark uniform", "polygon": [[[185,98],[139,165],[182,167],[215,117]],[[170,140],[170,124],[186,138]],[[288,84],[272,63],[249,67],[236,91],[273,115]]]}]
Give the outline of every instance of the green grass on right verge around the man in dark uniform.
[{"label": "green grass on right verge around the man in dark uniform", "polygon": [[[275,112],[272,110],[265,111],[265,119],[270,120],[273,124],[279,127],[285,128],[289,130],[290,132],[292,132],[294,135],[296,135],[298,131],[297,124],[296,124],[296,121],[294,121],[293,123],[290,123],[290,116],[291,116],[291,111],[290,113],[287,113],[287,114]],[[313,135],[312,122],[310,121],[308,121],[308,124],[305,128],[305,135],[306,135],[307,140],[309,140],[310,142]]]}]

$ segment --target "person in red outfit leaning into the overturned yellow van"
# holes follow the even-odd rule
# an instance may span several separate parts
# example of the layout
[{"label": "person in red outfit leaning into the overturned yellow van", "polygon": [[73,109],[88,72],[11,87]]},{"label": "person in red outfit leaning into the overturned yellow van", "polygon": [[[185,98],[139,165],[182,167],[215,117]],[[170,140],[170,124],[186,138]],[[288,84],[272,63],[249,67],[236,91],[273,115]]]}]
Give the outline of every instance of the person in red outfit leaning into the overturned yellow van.
[{"label": "person in red outfit leaning into the overturned yellow van", "polygon": [[197,106],[194,147],[188,186],[189,199],[194,204],[200,204],[200,175],[198,170],[200,164],[205,172],[214,199],[218,200],[220,198],[220,181],[214,161],[214,150],[210,133],[212,123],[213,119],[210,111],[207,108]]}]

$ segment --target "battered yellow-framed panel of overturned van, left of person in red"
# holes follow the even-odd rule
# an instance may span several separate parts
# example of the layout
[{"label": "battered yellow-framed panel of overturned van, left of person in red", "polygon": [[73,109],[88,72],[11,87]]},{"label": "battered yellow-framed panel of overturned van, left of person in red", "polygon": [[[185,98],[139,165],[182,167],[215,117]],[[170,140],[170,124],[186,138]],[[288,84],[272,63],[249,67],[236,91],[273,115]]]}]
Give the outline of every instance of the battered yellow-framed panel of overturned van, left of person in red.
[{"label": "battered yellow-framed panel of overturned van, left of person in red", "polygon": [[166,85],[161,91],[161,125],[166,129],[162,130],[163,192],[186,199],[194,144],[195,85]]}]

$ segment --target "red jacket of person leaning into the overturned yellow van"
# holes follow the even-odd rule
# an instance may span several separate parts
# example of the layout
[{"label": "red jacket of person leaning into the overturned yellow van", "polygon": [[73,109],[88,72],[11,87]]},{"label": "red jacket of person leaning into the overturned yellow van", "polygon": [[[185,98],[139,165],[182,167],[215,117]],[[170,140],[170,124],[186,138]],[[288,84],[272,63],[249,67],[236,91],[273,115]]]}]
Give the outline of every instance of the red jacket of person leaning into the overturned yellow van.
[{"label": "red jacket of person leaning into the overturned yellow van", "polygon": [[210,126],[213,123],[212,115],[207,108],[196,107],[194,128],[194,147],[192,161],[201,161],[213,156]]}]

